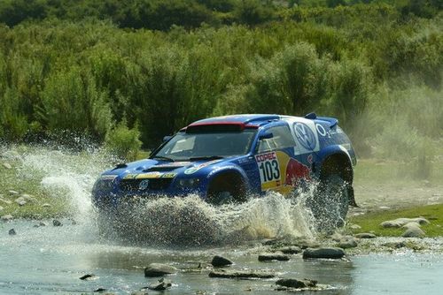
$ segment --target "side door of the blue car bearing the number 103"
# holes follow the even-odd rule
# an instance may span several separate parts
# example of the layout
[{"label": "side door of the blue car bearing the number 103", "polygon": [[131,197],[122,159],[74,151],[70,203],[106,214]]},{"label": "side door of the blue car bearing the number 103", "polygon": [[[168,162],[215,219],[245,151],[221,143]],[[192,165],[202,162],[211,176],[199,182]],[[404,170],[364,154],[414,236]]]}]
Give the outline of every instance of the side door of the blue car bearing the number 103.
[{"label": "side door of the blue car bearing the number 103", "polygon": [[296,157],[296,140],[288,124],[264,129],[256,154],[261,191],[291,193],[300,178],[310,178],[310,170]]}]

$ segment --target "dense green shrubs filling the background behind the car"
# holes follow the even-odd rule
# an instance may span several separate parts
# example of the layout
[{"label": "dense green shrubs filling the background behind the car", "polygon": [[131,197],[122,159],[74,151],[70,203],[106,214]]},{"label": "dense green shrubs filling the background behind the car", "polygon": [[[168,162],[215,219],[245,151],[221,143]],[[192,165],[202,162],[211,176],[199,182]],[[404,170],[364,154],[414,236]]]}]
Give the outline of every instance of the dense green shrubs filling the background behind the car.
[{"label": "dense green shrubs filling the background behind the car", "polygon": [[[443,143],[441,0],[0,0],[0,141],[136,157],[203,117],[338,117],[360,156]],[[425,161],[423,161],[425,160]]]}]

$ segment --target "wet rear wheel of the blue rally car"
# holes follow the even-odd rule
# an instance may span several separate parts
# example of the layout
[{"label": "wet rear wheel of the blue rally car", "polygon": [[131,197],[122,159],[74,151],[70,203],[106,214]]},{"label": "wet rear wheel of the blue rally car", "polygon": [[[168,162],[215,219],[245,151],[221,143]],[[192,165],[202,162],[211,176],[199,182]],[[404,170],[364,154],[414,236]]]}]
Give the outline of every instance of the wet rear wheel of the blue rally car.
[{"label": "wet rear wheel of the blue rally car", "polygon": [[349,202],[348,184],[343,178],[336,174],[323,178],[313,198],[307,200],[316,230],[329,233],[345,225]]}]

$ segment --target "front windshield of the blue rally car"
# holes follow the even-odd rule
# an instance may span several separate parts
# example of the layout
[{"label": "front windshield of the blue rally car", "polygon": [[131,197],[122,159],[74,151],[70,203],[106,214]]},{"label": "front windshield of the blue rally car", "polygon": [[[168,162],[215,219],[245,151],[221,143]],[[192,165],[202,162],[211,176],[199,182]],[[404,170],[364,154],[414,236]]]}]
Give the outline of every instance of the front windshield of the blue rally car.
[{"label": "front windshield of the blue rally car", "polygon": [[244,132],[177,133],[152,155],[172,161],[198,160],[248,153],[257,130]]}]

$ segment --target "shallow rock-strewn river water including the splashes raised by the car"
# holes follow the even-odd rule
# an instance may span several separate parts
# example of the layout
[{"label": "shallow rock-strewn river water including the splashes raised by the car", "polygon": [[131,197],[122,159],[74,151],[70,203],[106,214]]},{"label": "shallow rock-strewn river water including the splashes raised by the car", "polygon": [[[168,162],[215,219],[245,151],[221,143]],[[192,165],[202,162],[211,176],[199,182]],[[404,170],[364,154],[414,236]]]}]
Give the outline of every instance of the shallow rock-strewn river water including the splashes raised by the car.
[{"label": "shallow rock-strewn river water including the splashes raised by the car", "polygon": [[[276,292],[276,278],[210,278],[214,254],[234,261],[231,269],[260,269],[276,277],[317,280],[321,290],[304,291],[308,294],[441,294],[443,290],[443,253],[435,250],[354,253],[338,261],[304,261],[292,255],[290,261],[259,262],[258,254],[268,250],[260,243],[262,238],[316,238],[302,202],[278,194],[221,208],[195,196],[160,198],[143,204],[137,223],[127,224],[131,231],[126,239],[100,238],[89,190],[106,163],[97,156],[45,149],[10,152],[4,157],[19,159],[23,170],[38,168],[40,185],[54,198],[59,188],[69,195],[73,217],[60,219],[63,225],[58,227],[52,220],[44,220],[46,225],[39,227],[35,225],[40,221],[0,223],[0,294],[82,294],[98,288],[130,294],[156,282],[144,277],[144,267],[152,262],[179,269],[168,277],[173,285],[167,294]],[[12,228],[16,235],[8,234]],[[429,243],[439,244],[437,249],[443,244],[440,239]],[[96,278],[80,280],[86,274]]]}]

